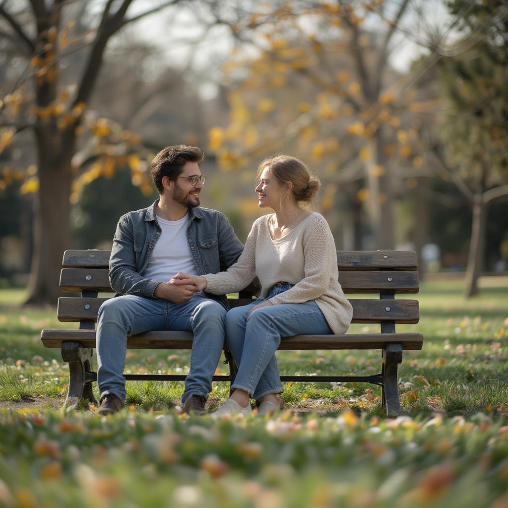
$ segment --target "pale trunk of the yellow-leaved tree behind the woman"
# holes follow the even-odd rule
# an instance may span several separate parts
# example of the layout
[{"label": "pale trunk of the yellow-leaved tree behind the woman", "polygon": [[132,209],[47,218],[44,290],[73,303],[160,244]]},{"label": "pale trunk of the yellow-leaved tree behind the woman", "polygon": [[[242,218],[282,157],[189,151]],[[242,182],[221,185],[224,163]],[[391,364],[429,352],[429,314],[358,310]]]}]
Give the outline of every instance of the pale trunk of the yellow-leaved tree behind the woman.
[{"label": "pale trunk of the yellow-leaved tree behind the woman", "polygon": [[390,168],[386,165],[383,137],[380,130],[369,143],[367,163],[369,185],[368,210],[376,249],[395,248],[393,189]]}]

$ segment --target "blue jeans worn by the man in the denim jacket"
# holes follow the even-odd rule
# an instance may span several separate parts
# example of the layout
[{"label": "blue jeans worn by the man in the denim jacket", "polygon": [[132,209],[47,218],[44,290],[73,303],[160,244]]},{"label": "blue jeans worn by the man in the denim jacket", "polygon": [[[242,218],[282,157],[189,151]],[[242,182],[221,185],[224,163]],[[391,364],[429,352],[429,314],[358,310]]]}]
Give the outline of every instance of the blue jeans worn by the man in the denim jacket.
[{"label": "blue jeans worn by the man in the denim jacket", "polygon": [[182,402],[191,395],[208,397],[212,376],[224,347],[226,309],[202,295],[186,303],[161,298],[123,295],[104,302],[97,324],[97,381],[101,398],[112,393],[125,401],[125,353],[127,337],[150,330],[194,333],[190,372]]}]

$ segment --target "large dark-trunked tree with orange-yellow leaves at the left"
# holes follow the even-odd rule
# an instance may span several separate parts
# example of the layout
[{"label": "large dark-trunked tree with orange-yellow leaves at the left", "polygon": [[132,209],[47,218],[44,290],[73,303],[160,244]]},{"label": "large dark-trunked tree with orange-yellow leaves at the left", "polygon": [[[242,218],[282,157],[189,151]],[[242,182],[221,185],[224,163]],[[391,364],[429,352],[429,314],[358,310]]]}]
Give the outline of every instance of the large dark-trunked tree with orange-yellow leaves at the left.
[{"label": "large dark-trunked tree with orange-yellow leaves at the left", "polygon": [[[33,132],[37,151],[37,165],[24,183],[25,192],[37,192],[35,250],[27,303],[53,303],[58,295],[55,281],[61,254],[70,241],[69,196],[76,202],[80,186],[100,174],[111,175],[116,164],[128,163],[133,179],[151,194],[146,162],[136,155],[140,137],[104,118],[87,116],[86,111],[110,39],[125,25],[179,3],[181,0],[159,2],[155,6],[152,3],[146,11],[131,17],[127,11],[133,0],[93,4],[65,0],[30,0],[24,5],[7,0],[0,3],[3,21],[0,40],[10,52],[17,51],[17,57],[8,64],[19,76],[0,104],[0,152],[25,130]],[[88,49],[86,56],[82,49]],[[62,69],[79,58],[83,61],[80,80],[75,86],[64,84]],[[20,73],[17,69],[21,59],[28,63]],[[94,151],[93,164],[76,179],[79,168],[90,162],[91,150],[75,157],[78,137],[86,131],[99,140],[91,141],[94,147],[100,145],[103,149],[99,154]],[[113,146],[107,148],[111,143]],[[2,178],[5,182],[16,175],[19,170],[8,168]]]}]

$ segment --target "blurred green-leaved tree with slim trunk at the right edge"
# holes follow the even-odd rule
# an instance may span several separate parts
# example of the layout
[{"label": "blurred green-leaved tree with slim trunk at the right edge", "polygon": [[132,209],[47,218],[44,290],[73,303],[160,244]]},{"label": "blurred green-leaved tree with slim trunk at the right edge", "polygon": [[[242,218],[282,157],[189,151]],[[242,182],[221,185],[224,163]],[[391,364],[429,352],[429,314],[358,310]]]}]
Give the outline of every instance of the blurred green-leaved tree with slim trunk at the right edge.
[{"label": "blurred green-leaved tree with slim trunk at the right edge", "polygon": [[[465,297],[478,294],[487,209],[508,197],[508,6],[501,0],[449,2],[463,37],[439,63],[444,111],[432,154],[472,209]],[[466,48],[464,50],[464,48]],[[508,212],[508,207],[507,212]]]}]

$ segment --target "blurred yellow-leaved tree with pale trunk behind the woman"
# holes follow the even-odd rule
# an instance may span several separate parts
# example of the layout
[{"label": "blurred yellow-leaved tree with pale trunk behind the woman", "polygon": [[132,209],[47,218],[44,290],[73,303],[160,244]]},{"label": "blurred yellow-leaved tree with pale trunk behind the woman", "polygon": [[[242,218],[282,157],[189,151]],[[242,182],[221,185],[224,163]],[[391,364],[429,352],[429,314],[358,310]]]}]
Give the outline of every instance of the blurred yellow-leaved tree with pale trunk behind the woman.
[{"label": "blurred yellow-leaved tree with pale trunk behind the woman", "polygon": [[[365,203],[372,246],[394,248],[394,196],[422,172],[417,129],[421,114],[436,107],[411,86],[421,67],[399,76],[388,63],[410,11],[408,0],[295,0],[259,4],[230,21],[255,50],[237,50],[228,65],[231,120],[210,131],[221,166],[291,151],[318,167],[324,211],[346,189],[352,206],[340,211],[351,212],[356,235]],[[412,12],[415,22],[419,11]]]}]

